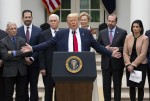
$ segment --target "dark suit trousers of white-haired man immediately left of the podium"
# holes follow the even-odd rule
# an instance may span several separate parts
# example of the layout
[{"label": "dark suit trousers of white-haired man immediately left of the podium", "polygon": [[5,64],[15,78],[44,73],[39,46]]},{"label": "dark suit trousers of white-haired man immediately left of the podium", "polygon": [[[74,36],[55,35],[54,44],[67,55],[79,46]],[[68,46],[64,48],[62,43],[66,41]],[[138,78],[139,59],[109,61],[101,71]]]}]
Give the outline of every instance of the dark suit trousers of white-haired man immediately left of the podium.
[{"label": "dark suit trousers of white-haired man immediately left of the podium", "polygon": [[43,76],[43,83],[45,86],[45,100],[44,101],[52,101],[53,88],[55,86],[55,83],[50,73],[47,73],[46,76]]}]

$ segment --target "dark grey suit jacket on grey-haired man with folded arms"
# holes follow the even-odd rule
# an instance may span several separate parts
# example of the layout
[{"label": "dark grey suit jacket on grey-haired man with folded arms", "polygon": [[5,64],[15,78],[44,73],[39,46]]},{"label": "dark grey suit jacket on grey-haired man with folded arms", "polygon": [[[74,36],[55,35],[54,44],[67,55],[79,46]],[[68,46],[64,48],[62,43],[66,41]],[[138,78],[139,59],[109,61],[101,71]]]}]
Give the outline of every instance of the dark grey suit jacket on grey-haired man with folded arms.
[{"label": "dark grey suit jacket on grey-haired man with folded arms", "polygon": [[[4,61],[3,76],[15,77],[18,72],[25,76],[27,75],[27,67],[25,64],[25,55],[20,51],[21,47],[26,44],[25,40],[21,37],[16,37],[17,49],[13,46],[13,42],[10,36],[7,36],[1,40],[1,54]],[[16,56],[8,54],[8,51],[16,51]]]}]

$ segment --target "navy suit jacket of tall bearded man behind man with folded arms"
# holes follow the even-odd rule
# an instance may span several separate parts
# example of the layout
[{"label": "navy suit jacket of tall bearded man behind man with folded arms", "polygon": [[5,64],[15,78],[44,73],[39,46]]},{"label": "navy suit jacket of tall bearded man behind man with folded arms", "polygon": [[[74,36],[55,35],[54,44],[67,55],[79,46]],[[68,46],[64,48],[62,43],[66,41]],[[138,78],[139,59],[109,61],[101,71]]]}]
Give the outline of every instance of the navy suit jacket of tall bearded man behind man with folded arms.
[{"label": "navy suit jacket of tall bearded man behind man with folded arms", "polygon": [[[41,29],[32,25],[32,32],[31,32],[31,37],[29,44],[32,45],[37,45],[39,43],[39,34],[41,32]],[[21,26],[17,29],[17,36],[20,36],[26,40],[26,34],[24,31],[24,26]],[[34,60],[38,59],[38,53],[34,53],[31,57],[34,58]]]}]

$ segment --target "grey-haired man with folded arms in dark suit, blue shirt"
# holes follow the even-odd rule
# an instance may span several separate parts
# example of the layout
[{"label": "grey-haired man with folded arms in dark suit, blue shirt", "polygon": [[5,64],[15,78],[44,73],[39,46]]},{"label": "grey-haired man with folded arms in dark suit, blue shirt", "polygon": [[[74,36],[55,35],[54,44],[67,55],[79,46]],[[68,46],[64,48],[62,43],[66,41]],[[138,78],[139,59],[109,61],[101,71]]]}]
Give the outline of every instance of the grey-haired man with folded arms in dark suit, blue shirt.
[{"label": "grey-haired man with folded arms in dark suit, blue shirt", "polygon": [[0,51],[4,61],[4,101],[12,101],[14,86],[16,100],[25,101],[25,88],[27,82],[27,67],[25,55],[20,51],[26,44],[25,40],[16,36],[17,26],[9,22],[6,29],[8,36],[1,40]]}]

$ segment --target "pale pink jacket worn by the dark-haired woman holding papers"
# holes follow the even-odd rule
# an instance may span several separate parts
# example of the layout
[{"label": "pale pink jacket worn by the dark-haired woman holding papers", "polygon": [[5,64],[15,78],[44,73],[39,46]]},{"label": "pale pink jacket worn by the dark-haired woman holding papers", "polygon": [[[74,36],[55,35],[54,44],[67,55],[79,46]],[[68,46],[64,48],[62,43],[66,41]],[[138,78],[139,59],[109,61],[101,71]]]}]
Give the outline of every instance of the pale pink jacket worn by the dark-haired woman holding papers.
[{"label": "pale pink jacket worn by the dark-haired woman holding papers", "polygon": [[132,48],[133,48],[133,43],[134,43],[134,36],[133,34],[128,34],[124,43],[124,50],[123,50],[123,57],[124,57],[124,62],[125,65],[133,65],[137,67],[139,64],[146,64],[147,63],[147,50],[148,50],[148,45],[149,45],[149,40],[148,37],[145,36],[144,34],[141,35],[139,38],[137,38],[136,41],[136,53],[137,53],[137,58],[131,63],[130,62],[130,56],[132,53]]}]

